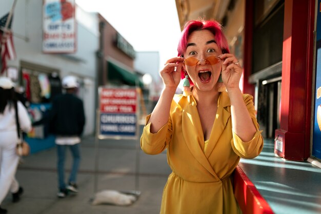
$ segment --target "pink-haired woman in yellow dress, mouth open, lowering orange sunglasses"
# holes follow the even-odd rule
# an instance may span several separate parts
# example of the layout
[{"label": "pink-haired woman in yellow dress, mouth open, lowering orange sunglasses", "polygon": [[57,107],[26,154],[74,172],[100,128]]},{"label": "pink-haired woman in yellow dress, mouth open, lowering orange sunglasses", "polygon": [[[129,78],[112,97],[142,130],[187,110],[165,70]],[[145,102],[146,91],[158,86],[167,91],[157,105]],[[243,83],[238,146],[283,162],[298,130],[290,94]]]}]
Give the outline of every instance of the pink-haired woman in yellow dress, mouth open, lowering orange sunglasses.
[{"label": "pink-haired woman in yellow dress, mouth open, lowering orange sunglasses", "polygon": [[263,148],[253,97],[239,89],[242,67],[216,21],[188,22],[177,50],[160,71],[165,88],[141,137],[146,153],[167,149],[160,213],[240,213],[233,171]]}]

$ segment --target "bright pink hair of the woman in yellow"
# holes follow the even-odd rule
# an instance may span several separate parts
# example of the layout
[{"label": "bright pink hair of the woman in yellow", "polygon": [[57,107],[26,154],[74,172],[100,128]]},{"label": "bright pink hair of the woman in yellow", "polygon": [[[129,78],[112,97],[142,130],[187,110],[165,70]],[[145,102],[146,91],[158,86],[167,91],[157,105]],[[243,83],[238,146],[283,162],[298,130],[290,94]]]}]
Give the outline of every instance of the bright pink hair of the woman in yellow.
[{"label": "bright pink hair of the woman in yellow", "polygon": [[[215,42],[218,47],[222,50],[222,53],[229,53],[229,45],[227,43],[227,39],[222,31],[222,25],[220,25],[216,21],[210,20],[191,20],[185,24],[184,30],[182,31],[182,36],[180,37],[177,51],[178,56],[183,56],[184,51],[187,47],[187,41],[190,34],[196,30],[209,30],[213,33],[215,37]],[[182,79],[185,78],[185,70],[182,69],[180,72],[180,76]],[[190,84],[193,85],[192,81]]]}]

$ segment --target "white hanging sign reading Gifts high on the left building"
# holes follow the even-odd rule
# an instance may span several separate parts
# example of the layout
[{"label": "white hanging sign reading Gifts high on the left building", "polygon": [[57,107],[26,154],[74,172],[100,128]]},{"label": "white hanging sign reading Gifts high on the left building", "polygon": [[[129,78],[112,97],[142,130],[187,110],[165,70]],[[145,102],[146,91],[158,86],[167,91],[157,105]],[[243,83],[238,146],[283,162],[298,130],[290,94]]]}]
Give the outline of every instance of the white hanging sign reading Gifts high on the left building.
[{"label": "white hanging sign reading Gifts high on the left building", "polygon": [[43,51],[76,51],[75,0],[44,0]]}]

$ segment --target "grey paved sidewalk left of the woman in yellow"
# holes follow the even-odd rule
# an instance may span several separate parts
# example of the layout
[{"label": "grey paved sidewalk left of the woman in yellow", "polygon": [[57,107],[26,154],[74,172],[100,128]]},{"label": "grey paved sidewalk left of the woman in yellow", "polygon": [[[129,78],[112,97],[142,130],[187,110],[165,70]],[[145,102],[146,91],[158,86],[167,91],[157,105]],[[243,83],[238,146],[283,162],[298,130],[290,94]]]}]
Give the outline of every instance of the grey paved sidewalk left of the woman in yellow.
[{"label": "grey paved sidewalk left of the woman in yellow", "polygon": [[[82,162],[77,183],[79,193],[58,199],[56,175],[56,150],[50,148],[26,157],[19,165],[17,180],[24,187],[18,203],[11,202],[11,194],[2,203],[8,214],[59,214],[59,213],[159,213],[162,192],[171,172],[167,165],[166,152],[148,155],[139,152],[139,167],[136,174],[137,150],[134,140],[99,140],[98,173],[95,173],[95,138],[85,137],[82,141]],[[66,176],[71,167],[71,154],[66,155]],[[97,177],[95,177],[95,174]],[[95,186],[95,179],[97,183]],[[141,196],[131,206],[90,204],[97,191],[140,190]]]}]

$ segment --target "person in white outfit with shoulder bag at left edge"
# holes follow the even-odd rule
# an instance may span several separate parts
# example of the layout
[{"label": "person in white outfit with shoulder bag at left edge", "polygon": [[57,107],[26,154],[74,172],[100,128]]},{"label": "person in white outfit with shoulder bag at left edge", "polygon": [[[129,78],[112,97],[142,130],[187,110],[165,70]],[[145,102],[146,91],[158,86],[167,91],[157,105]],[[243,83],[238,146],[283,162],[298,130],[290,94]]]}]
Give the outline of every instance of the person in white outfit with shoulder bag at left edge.
[{"label": "person in white outfit with shoulder bag at left edge", "polygon": [[[24,132],[31,130],[31,120],[25,106],[15,99],[13,83],[8,77],[0,77],[0,206],[7,193],[12,193],[13,202],[23,192],[15,179],[19,156],[15,148],[18,142],[15,118],[15,102],[20,128]],[[0,214],[7,213],[0,207]]]}]

